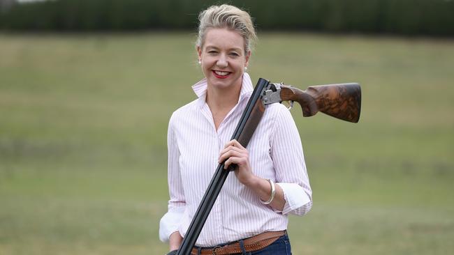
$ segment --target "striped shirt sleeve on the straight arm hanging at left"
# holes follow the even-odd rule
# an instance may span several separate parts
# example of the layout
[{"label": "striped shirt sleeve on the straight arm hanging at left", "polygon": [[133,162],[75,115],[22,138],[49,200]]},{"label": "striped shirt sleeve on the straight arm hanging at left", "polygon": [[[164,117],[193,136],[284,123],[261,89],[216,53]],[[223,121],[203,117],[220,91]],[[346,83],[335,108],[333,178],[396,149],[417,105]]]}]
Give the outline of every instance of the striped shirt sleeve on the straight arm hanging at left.
[{"label": "striped shirt sleeve on the straight arm hanging at left", "polygon": [[180,150],[178,149],[177,139],[175,137],[174,119],[173,116],[170,118],[167,134],[168,188],[170,200],[168,201],[168,212],[159,222],[159,239],[162,242],[168,242],[170,235],[175,231],[178,231],[180,220],[186,208],[186,200],[184,199],[184,190],[178,163]]}]

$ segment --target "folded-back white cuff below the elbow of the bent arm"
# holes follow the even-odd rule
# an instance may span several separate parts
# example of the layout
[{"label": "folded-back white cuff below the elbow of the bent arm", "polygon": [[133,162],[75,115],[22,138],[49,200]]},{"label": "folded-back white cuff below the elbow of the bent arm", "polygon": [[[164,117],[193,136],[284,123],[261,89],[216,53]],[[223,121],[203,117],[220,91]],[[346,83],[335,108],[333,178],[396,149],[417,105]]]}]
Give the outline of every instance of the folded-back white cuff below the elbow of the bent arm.
[{"label": "folded-back white cuff below the elbow of the bent arm", "polygon": [[296,183],[277,183],[277,185],[282,188],[282,191],[284,192],[284,199],[286,201],[284,209],[282,209],[281,212],[282,215],[286,215],[288,212],[302,208],[302,206],[311,202],[311,199],[300,185]]}]

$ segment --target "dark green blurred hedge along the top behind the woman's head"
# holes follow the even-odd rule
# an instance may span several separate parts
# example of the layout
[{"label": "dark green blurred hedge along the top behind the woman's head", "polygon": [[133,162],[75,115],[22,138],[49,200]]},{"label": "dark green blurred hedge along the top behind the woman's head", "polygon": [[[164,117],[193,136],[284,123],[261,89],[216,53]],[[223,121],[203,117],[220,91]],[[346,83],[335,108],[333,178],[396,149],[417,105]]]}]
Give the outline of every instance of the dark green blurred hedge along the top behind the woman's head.
[{"label": "dark green blurred hedge along the top behind the woman's head", "polygon": [[[0,29],[102,31],[195,29],[200,10],[222,1],[59,0],[17,4]],[[226,1],[249,10],[260,30],[454,35],[453,0]]]}]

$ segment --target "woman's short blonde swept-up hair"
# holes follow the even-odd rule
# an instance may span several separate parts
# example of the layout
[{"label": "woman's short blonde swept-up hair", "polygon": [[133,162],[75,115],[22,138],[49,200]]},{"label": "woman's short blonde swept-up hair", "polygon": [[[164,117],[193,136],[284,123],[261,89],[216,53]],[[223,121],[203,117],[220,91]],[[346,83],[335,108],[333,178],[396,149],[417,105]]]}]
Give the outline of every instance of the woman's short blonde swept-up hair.
[{"label": "woman's short blonde swept-up hair", "polygon": [[257,38],[249,13],[235,6],[228,4],[210,6],[198,15],[198,20],[200,23],[196,46],[200,48],[203,47],[205,33],[208,29],[231,29],[240,33],[244,38],[245,53],[251,51],[252,44]]}]

